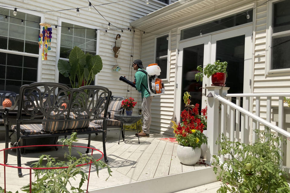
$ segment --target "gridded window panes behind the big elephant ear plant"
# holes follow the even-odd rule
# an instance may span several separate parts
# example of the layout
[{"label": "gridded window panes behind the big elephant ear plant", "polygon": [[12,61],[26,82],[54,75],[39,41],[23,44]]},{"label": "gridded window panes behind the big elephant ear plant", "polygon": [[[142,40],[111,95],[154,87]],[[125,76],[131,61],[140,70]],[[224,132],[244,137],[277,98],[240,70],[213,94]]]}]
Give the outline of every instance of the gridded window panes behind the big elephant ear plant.
[{"label": "gridded window panes behind the big elephant ear plant", "polygon": [[[82,51],[96,55],[97,50],[97,33],[95,29],[86,28],[79,25],[61,22],[61,35],[60,35],[60,59],[69,61],[69,53],[78,46]],[[68,27],[70,28],[68,30]],[[77,80],[77,79],[76,79]],[[69,78],[64,77],[59,73],[59,83],[70,86]],[[92,81],[90,85],[94,85]]]}]

